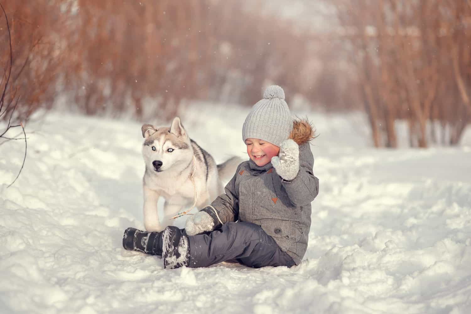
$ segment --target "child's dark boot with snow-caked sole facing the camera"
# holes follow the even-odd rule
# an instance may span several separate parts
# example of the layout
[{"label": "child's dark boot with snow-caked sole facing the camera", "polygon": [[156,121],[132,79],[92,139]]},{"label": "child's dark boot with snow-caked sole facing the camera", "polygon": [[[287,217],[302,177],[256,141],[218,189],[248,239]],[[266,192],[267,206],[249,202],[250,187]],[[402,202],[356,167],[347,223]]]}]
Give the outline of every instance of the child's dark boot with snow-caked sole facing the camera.
[{"label": "child's dark boot with snow-caked sole facing the camera", "polygon": [[188,238],[178,227],[168,226],[163,230],[163,268],[179,268],[188,263]]}]

